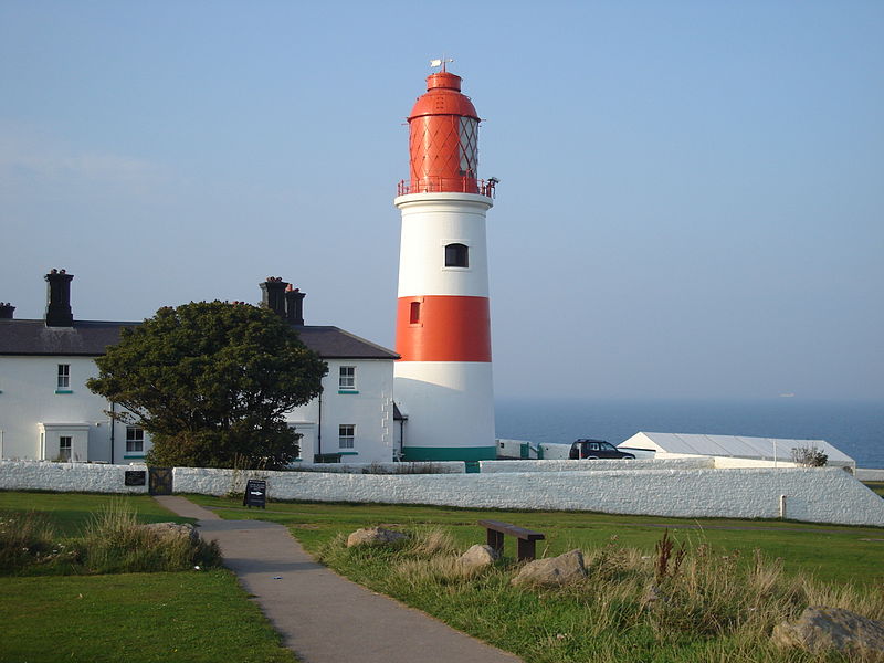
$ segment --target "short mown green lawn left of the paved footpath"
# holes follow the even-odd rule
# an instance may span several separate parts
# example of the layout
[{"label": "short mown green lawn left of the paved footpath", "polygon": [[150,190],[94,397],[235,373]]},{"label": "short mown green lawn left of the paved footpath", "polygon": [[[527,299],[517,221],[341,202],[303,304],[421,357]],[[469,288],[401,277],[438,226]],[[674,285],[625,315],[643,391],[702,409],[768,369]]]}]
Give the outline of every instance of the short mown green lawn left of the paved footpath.
[{"label": "short mown green lawn left of the paved footpath", "polygon": [[[143,523],[188,522],[146,495],[0,492],[0,512],[39,512],[60,538],[75,537],[93,513],[120,499]],[[55,572],[70,571],[10,577],[0,569],[0,662],[296,661],[225,569]]]}]

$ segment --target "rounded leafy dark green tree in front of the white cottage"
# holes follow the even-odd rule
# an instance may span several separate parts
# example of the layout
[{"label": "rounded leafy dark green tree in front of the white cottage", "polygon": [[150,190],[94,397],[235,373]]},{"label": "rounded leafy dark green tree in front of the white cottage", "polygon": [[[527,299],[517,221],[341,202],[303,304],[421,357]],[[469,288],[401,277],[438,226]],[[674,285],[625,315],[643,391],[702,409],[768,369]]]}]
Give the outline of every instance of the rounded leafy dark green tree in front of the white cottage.
[{"label": "rounded leafy dark green tree in front of the white cottage", "polygon": [[284,414],[322,391],[326,364],[280,316],[249,304],[160,308],[96,359],[86,386],[152,440],[147,462],[276,470],[298,453]]}]

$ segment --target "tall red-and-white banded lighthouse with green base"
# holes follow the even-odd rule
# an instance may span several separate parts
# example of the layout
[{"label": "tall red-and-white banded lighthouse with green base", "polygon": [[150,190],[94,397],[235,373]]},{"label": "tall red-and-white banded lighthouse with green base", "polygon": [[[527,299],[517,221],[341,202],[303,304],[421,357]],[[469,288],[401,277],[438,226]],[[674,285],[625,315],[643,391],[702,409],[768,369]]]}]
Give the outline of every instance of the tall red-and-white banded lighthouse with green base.
[{"label": "tall red-and-white banded lighthouse with green base", "polygon": [[496,180],[478,179],[480,118],[461,77],[427,77],[409,124],[396,323],[396,400],[407,461],[494,459],[494,386],[485,213]]}]

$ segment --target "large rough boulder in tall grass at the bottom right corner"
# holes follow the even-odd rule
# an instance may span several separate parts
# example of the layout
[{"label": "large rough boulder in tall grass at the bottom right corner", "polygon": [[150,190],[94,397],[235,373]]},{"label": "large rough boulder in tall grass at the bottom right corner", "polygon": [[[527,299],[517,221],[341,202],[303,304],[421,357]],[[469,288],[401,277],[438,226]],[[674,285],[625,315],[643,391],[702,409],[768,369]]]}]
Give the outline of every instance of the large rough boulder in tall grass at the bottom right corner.
[{"label": "large rough boulder in tall grass at the bottom right corner", "polygon": [[770,638],[779,646],[813,654],[835,650],[884,661],[884,622],[841,608],[811,606],[798,621],[774,627]]}]

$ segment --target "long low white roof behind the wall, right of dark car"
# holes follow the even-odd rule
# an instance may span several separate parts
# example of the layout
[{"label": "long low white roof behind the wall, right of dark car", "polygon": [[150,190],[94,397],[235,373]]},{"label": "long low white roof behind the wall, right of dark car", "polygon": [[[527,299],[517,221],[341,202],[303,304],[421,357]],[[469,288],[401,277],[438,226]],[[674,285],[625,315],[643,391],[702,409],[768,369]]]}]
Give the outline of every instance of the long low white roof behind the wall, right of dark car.
[{"label": "long low white roof behind the wall, right of dark car", "polygon": [[792,449],[815,446],[829,456],[829,462],[843,465],[855,461],[825,440],[786,440],[778,438],[740,438],[737,435],[702,435],[684,433],[644,433],[632,435],[619,446],[653,449],[665,453],[719,455],[741,459],[774,459],[791,461]]}]

